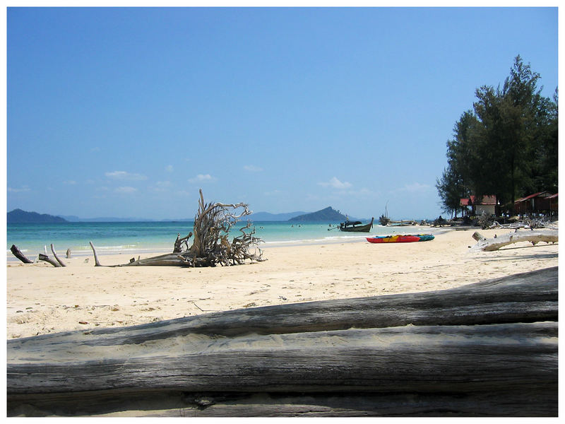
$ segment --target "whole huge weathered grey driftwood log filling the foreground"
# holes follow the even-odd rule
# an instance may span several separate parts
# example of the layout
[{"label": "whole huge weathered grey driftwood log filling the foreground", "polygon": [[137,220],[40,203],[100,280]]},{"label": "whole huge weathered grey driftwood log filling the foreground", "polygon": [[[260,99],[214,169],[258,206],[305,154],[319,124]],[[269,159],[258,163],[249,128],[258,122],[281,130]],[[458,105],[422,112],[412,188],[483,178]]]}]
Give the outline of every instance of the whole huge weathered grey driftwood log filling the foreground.
[{"label": "whole huge weathered grey driftwood log filling the foreground", "polygon": [[557,416],[557,267],[8,341],[8,416]]}]

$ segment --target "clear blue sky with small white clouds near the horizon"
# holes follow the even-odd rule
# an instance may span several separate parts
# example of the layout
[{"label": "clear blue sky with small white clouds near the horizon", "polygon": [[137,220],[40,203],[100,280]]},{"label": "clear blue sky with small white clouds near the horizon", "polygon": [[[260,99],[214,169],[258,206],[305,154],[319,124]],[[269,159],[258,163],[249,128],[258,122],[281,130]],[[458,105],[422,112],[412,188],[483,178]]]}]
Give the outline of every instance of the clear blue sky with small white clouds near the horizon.
[{"label": "clear blue sky with small white clouds near the horizon", "polygon": [[8,8],[7,209],[436,218],[446,141],[557,8]]}]

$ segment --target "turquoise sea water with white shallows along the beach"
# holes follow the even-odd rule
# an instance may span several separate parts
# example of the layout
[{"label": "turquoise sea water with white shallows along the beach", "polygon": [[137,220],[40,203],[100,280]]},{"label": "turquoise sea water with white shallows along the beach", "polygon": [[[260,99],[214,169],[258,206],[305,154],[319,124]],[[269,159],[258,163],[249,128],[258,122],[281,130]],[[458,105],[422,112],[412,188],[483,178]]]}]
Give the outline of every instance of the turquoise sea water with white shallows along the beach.
[{"label": "turquoise sea water with white shallows along the beach", "polygon": [[[241,235],[239,228],[245,224],[238,222],[230,231],[230,238]],[[51,244],[61,258],[64,258],[67,249],[71,249],[72,256],[91,255],[89,242],[93,242],[99,255],[172,252],[177,234],[181,237],[188,235],[193,225],[194,222],[191,221],[8,224],[6,259],[18,261],[10,251],[12,245],[16,245],[31,260],[37,259],[38,254],[43,253],[45,249],[47,254],[51,255]],[[258,245],[260,249],[290,244],[355,241],[370,235],[402,234],[411,230],[411,227],[374,225],[371,232],[342,232],[338,230],[338,225],[339,223],[327,221],[256,221],[252,223],[251,228],[255,228],[255,236],[263,240]]]}]

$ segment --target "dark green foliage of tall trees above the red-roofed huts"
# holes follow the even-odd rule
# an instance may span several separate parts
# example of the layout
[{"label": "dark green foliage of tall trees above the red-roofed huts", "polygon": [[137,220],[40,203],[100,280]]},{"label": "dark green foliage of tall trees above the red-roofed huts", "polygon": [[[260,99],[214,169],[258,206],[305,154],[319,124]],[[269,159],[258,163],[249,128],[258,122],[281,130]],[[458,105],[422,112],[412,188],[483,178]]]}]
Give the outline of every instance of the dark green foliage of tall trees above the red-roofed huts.
[{"label": "dark green foliage of tall trees above the red-roofed huts", "polygon": [[540,74],[517,56],[502,87],[481,86],[447,141],[447,166],[436,188],[444,211],[471,195],[496,195],[501,213],[535,192],[557,192],[557,88],[538,88]]}]

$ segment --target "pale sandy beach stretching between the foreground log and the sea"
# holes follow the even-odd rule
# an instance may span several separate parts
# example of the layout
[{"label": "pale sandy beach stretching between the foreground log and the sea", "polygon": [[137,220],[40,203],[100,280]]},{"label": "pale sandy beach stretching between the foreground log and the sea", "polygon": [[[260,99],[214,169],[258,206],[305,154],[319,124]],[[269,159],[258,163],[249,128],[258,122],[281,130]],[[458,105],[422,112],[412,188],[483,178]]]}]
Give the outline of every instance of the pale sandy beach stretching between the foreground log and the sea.
[{"label": "pale sandy beach stretching between the foreground log and the sea", "polygon": [[[558,264],[558,244],[470,252],[477,229],[446,229],[435,240],[372,245],[364,239],[264,249],[268,260],[186,269],[95,267],[90,257],[7,264],[7,338],[131,326],[208,312],[292,302],[454,288]],[[521,230],[526,231],[526,230]],[[494,237],[513,230],[480,230]],[[150,257],[145,254],[142,257]],[[125,264],[131,255],[100,257]]]}]

